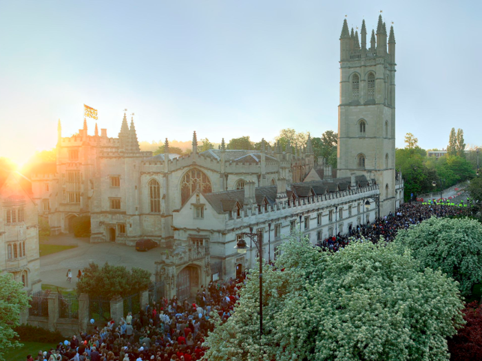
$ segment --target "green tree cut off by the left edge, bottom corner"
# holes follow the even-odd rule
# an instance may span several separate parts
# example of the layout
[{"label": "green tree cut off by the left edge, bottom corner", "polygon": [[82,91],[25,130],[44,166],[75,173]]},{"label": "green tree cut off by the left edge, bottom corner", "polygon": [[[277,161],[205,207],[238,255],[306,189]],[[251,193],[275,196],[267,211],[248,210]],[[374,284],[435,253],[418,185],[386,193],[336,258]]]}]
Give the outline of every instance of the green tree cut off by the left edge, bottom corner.
[{"label": "green tree cut off by the left edge, bottom corner", "polygon": [[8,349],[21,347],[14,327],[20,325],[20,313],[30,298],[12,274],[0,274],[0,285],[0,360],[4,361]]}]

